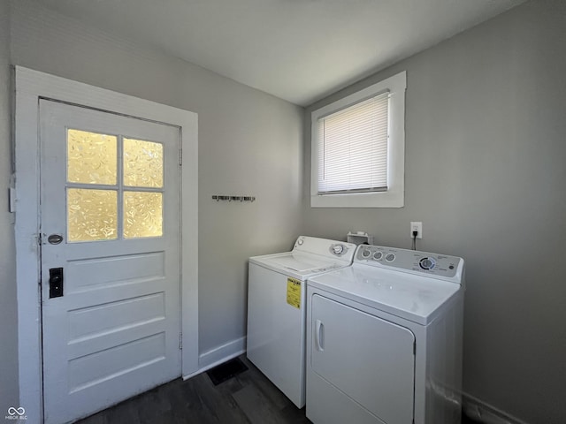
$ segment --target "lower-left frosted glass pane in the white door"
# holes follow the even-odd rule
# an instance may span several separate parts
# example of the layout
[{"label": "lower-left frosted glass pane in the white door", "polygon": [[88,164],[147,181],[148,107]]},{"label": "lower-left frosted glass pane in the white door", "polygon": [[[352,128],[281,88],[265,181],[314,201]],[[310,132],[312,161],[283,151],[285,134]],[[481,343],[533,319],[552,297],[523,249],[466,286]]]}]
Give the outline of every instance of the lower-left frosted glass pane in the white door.
[{"label": "lower-left frosted glass pane in the white door", "polygon": [[118,192],[67,189],[67,239],[69,241],[118,238]]}]

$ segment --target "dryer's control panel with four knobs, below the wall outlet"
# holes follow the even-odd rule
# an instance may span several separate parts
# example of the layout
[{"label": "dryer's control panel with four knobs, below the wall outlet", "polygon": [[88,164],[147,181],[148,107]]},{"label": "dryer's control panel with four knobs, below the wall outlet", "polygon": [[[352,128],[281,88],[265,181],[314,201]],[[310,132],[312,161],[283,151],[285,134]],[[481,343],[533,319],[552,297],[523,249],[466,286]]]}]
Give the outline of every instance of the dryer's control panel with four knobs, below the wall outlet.
[{"label": "dryer's control panel with four knobs, below the wall outlet", "polygon": [[378,267],[404,270],[413,274],[446,278],[456,276],[456,273],[463,267],[463,259],[457,256],[369,245],[360,245],[358,247],[354,261]]}]

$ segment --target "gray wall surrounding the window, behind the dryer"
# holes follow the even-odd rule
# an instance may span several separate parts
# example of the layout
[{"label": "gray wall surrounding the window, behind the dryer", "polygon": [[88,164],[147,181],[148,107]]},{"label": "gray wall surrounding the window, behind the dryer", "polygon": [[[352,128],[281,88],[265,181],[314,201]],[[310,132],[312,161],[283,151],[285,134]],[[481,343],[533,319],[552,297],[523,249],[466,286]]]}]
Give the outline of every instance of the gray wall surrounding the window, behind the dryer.
[{"label": "gray wall surrounding the window, behind the dryer", "polygon": [[461,255],[464,390],[526,422],[566,422],[566,2],[532,1],[340,95],[407,71],[405,208],[310,208],[305,229]]}]

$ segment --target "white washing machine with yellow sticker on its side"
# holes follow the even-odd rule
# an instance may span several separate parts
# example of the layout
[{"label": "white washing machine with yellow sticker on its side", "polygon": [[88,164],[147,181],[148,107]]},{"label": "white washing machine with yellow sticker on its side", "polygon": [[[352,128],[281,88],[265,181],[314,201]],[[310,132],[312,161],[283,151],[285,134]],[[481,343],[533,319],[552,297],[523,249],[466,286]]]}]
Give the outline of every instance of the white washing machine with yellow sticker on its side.
[{"label": "white washing machine with yellow sticker on its side", "polygon": [[293,251],[249,258],[248,358],[294,405],[305,405],[309,276],[347,267],[356,245],[299,237]]}]

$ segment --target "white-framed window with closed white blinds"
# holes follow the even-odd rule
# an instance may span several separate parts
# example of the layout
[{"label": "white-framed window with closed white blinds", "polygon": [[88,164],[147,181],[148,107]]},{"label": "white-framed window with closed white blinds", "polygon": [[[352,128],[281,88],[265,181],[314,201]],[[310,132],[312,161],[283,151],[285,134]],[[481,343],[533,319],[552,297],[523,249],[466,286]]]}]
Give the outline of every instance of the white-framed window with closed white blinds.
[{"label": "white-framed window with closed white blinds", "polygon": [[405,90],[399,72],[310,114],[310,206],[402,208]]}]

